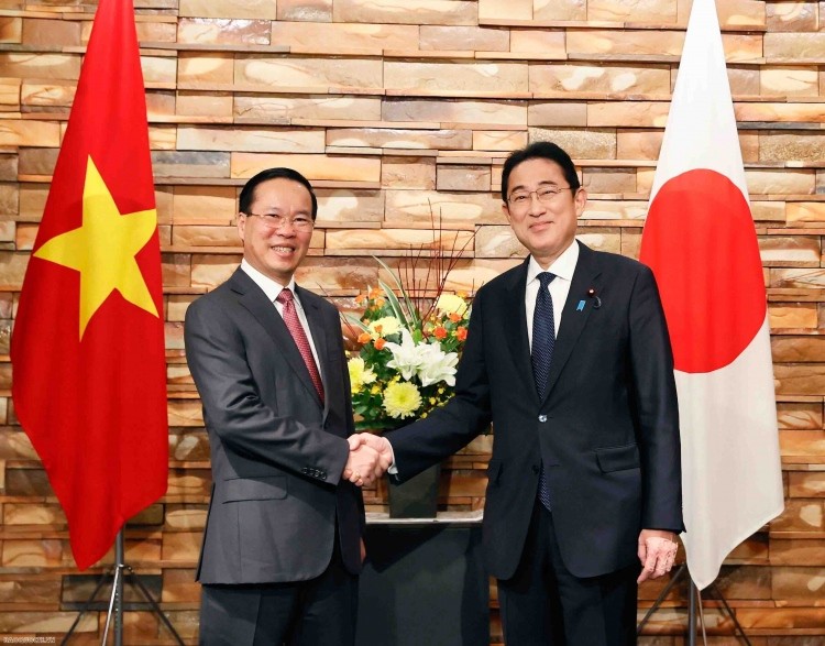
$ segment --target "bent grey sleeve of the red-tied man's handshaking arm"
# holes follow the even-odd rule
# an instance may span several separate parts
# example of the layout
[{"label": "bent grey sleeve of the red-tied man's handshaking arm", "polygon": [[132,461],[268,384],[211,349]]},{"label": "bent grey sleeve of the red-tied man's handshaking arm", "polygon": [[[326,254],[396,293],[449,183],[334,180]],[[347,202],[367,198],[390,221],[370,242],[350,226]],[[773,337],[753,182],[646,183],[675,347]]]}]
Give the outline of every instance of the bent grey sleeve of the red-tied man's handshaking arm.
[{"label": "bent grey sleeve of the red-tied man's handshaking arm", "polygon": [[204,404],[208,427],[233,451],[304,473],[310,467],[336,485],[349,456],[345,439],[320,425],[276,416],[257,392],[237,325],[207,300],[186,313],[186,359]]}]

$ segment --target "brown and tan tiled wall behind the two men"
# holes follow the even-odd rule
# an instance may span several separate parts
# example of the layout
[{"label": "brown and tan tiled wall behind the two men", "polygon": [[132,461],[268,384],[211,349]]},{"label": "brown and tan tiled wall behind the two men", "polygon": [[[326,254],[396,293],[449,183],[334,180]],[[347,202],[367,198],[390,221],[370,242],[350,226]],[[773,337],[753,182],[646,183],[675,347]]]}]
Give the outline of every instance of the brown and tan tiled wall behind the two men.
[{"label": "brown and tan tiled wall behind the two men", "polygon": [[[475,232],[450,280],[472,289],[524,250],[495,191],[503,158],[559,142],[591,201],[587,243],[635,256],[690,0],[136,0],[164,261],[169,489],[128,533],[127,557],[195,644],[193,581],[210,473],[183,353],[187,305],[240,260],[243,182],[289,165],[318,187],[298,280],[352,309],[395,263]],[[758,646],[825,634],[825,2],[717,0],[769,294],[788,508],[728,559],[719,589]],[[10,398],[9,340],[88,40],[95,2],[0,1],[0,634],[68,629],[77,577],[66,522]],[[441,502],[483,504],[492,438],[444,471]],[[382,508],[381,490],[367,492]],[[106,559],[111,562],[111,555]],[[94,570],[102,571],[101,568]],[[640,612],[662,582],[640,591]],[[493,590],[493,635],[501,640]],[[713,604],[712,604],[713,605]],[[127,617],[127,643],[170,644]],[[644,644],[684,643],[676,587]],[[105,612],[78,626],[99,642]],[[708,610],[711,642],[736,643]]]}]

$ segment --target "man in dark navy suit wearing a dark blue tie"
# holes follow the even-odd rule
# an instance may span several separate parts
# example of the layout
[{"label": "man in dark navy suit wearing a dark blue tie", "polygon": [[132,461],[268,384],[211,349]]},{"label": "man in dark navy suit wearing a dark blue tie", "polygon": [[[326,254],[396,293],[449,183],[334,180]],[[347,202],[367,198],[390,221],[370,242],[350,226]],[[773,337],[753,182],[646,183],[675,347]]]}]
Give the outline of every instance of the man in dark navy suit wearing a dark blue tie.
[{"label": "man in dark navy suit wearing a dark blue tie", "polygon": [[558,145],[513,153],[502,199],[530,255],[473,300],[455,396],[362,441],[387,461],[394,451],[406,480],[492,420],[483,547],[505,642],[635,644],[637,581],[670,570],[683,529],[673,360],[656,281],[636,261],[575,241],[586,193]]}]

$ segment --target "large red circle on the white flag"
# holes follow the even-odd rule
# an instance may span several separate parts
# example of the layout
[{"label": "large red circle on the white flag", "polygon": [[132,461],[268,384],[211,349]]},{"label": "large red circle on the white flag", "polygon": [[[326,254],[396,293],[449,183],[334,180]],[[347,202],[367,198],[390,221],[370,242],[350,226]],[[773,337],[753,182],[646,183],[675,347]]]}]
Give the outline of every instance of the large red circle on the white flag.
[{"label": "large red circle on the white flag", "polygon": [[750,208],[730,179],[702,168],[668,180],[639,260],[659,284],[676,370],[711,372],[741,354],[767,304]]}]

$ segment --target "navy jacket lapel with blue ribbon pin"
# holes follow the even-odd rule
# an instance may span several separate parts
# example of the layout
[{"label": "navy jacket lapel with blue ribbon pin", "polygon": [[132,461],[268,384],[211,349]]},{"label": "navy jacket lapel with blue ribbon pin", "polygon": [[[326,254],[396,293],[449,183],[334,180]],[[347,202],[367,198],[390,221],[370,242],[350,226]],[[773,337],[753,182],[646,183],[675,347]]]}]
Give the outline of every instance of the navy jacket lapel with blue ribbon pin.
[{"label": "navy jacket lapel with blue ribbon pin", "polygon": [[[580,242],[576,242],[576,244],[579,244],[579,261],[575,265],[575,272],[573,272],[573,282],[570,284],[568,299],[562,309],[561,326],[553,348],[553,359],[550,363],[544,399],[550,395],[559,380],[559,375],[568,359],[570,359],[584,325],[590,318],[590,313],[593,310],[594,299],[587,295],[587,291],[593,288],[596,294],[602,291],[602,282],[600,281],[602,270],[596,261],[596,254],[584,244]],[[582,300],[584,305],[580,309],[580,302]]]}]

